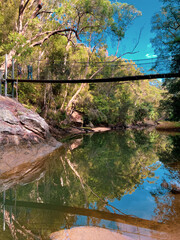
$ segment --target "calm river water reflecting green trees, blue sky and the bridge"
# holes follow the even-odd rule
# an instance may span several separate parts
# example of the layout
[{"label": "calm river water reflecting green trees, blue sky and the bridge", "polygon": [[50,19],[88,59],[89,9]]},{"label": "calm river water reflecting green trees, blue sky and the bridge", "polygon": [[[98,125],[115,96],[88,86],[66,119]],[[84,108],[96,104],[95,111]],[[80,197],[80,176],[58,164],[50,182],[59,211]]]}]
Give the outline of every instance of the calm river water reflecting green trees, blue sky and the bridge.
[{"label": "calm river water reflecting green trees, blue sky and the bridge", "polygon": [[103,227],[133,239],[178,239],[180,194],[161,184],[180,183],[179,140],[156,131],[69,140],[31,182],[19,180],[0,193],[0,239],[48,239],[75,226]]}]

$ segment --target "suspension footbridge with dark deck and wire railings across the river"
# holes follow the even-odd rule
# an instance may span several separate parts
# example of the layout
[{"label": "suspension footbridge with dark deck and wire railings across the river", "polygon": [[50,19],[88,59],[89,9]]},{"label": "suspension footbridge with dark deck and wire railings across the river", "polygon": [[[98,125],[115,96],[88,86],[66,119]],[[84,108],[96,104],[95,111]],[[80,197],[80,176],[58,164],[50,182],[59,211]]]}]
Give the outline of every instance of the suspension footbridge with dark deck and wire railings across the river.
[{"label": "suspension footbridge with dark deck and wire railings across the river", "polygon": [[[72,62],[64,65],[61,61],[53,61],[52,63],[42,63],[38,60],[36,62],[27,62],[26,65],[35,65],[33,67],[34,76],[33,79],[28,79],[29,75],[27,70],[24,70],[21,76],[16,74],[15,69],[17,64],[12,60],[11,68],[7,67],[7,55],[5,58],[5,69],[0,70],[0,95],[14,97],[14,86],[20,83],[34,83],[34,84],[78,84],[78,83],[107,83],[107,82],[117,82],[126,83],[142,80],[155,80],[160,79],[173,79],[180,77],[180,71],[172,73],[170,71],[170,66],[173,63],[173,58],[158,59],[158,58],[148,58],[139,60],[118,60],[110,62],[95,62],[93,64],[87,64],[87,62]],[[154,69],[154,66],[158,65],[158,71]],[[89,67],[93,68],[94,73],[89,76],[89,78],[82,78],[82,72]],[[131,69],[134,67],[137,74],[132,75]],[[70,75],[70,69],[72,72],[79,74],[77,76]],[[53,75],[53,76],[52,76]],[[73,74],[71,74],[73,75]],[[54,77],[55,76],[55,77]],[[103,77],[107,76],[107,77]],[[10,91],[8,93],[8,83],[11,84]],[[2,87],[4,85],[4,87]]]}]

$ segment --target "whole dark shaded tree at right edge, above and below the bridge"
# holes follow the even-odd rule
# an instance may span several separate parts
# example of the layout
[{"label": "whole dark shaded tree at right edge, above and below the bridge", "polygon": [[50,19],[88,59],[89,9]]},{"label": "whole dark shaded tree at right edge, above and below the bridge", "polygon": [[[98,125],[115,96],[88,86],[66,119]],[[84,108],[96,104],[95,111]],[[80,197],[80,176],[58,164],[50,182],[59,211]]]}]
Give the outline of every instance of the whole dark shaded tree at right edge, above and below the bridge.
[{"label": "whole dark shaded tree at right edge, above and below the bridge", "polygon": [[[172,72],[179,72],[180,66],[180,15],[178,0],[162,0],[161,11],[153,17],[152,31],[156,36],[152,39],[152,45],[159,58],[171,60],[167,61],[167,69]],[[157,61],[156,67],[160,67]],[[180,78],[166,79],[163,84],[169,94],[167,100],[163,102],[165,109],[168,107],[169,118],[180,120]]]}]

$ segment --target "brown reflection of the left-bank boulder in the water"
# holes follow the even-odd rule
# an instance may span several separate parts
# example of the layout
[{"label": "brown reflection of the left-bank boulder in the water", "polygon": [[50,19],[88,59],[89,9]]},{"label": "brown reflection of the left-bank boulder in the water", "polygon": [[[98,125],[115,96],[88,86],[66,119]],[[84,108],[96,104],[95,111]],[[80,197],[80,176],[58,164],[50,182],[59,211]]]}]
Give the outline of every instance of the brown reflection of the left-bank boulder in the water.
[{"label": "brown reflection of the left-bank boulder in the water", "polygon": [[0,192],[17,184],[40,179],[49,169],[48,164],[61,156],[63,146],[54,138],[48,143],[0,146]]}]

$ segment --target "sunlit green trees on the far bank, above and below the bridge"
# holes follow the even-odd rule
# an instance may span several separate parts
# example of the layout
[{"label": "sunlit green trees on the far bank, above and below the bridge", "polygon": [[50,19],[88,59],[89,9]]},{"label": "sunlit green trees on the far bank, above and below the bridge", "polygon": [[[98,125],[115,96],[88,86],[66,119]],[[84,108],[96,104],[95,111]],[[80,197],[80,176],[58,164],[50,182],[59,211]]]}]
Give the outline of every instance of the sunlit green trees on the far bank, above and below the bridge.
[{"label": "sunlit green trees on the far bank, above and below the bridge", "polygon": [[[115,57],[108,56],[107,52],[107,35],[113,41],[121,40],[129,24],[141,15],[134,6],[109,0],[55,3],[44,1],[42,10],[47,12],[34,17],[36,2],[28,3],[23,15],[19,15],[19,1],[9,1],[12,19],[6,4],[1,3],[4,10],[0,15],[3,26],[1,53],[15,54],[15,61],[22,67],[22,78],[27,78],[28,64],[33,66],[33,79],[70,80],[140,74],[135,63],[123,59],[114,61]],[[8,31],[4,31],[4,22],[7,22]],[[43,117],[57,123],[71,112],[71,108],[83,112],[86,121],[95,125],[156,119],[160,93],[160,89],[143,82],[19,85],[19,100],[33,105]]]}]

